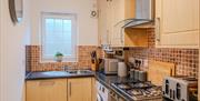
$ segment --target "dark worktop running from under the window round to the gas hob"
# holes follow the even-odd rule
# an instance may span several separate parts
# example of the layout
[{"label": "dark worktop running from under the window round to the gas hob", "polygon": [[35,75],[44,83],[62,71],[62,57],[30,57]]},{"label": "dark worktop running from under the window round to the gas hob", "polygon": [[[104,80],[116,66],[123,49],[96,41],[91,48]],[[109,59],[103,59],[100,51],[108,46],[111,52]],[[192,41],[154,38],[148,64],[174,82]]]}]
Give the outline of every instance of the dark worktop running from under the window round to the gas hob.
[{"label": "dark worktop running from under the window round to the gas hob", "polygon": [[[60,78],[86,78],[86,77],[94,77],[101,84],[103,84],[109,90],[114,91],[118,95],[120,95],[126,101],[133,101],[130,97],[126,95],[123,92],[111,87],[111,83],[114,82],[127,82],[131,79],[129,78],[119,78],[117,75],[106,75],[99,72],[92,72],[90,74],[69,74],[66,71],[47,71],[47,72],[30,72],[27,74],[26,80],[43,80],[43,79],[60,79]],[[170,101],[167,99],[151,100],[151,101]]]}]

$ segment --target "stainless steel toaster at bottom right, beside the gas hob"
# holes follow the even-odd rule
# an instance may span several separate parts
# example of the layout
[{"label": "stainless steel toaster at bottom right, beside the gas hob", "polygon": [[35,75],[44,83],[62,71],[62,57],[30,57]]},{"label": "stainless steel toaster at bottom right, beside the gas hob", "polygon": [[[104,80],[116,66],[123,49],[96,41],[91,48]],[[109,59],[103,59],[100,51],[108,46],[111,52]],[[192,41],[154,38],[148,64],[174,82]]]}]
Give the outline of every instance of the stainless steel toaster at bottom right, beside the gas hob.
[{"label": "stainless steel toaster at bottom right, beside the gas hob", "polygon": [[198,80],[184,75],[166,77],[162,92],[172,101],[198,101]]}]

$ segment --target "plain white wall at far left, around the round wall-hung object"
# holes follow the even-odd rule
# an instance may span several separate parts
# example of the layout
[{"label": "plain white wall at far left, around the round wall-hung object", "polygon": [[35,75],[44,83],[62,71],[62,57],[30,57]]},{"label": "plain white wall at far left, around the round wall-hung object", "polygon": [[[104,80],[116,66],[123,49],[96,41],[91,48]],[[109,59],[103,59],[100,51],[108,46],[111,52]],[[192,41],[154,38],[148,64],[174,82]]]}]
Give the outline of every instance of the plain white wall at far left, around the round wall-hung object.
[{"label": "plain white wall at far left, around the round wall-hung object", "polygon": [[29,0],[23,1],[23,21],[13,26],[8,0],[0,0],[0,101],[23,100],[24,44],[30,33]]}]

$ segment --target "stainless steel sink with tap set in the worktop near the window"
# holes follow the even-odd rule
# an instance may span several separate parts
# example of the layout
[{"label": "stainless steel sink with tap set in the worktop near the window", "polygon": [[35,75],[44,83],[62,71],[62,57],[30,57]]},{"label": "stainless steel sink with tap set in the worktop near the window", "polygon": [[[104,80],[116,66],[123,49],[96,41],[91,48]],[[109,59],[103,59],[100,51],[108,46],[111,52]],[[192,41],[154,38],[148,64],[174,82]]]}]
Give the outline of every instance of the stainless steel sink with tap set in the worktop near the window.
[{"label": "stainless steel sink with tap set in the worktop near the window", "polygon": [[70,74],[92,74],[93,73],[91,70],[67,70],[66,72]]}]

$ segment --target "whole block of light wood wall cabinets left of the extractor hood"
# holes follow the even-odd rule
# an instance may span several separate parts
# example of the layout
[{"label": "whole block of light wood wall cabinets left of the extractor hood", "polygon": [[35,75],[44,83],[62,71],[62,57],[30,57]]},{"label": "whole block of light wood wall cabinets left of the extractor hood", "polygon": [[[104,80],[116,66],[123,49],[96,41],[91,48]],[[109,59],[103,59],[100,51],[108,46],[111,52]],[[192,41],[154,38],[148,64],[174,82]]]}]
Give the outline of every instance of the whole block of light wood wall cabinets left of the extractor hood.
[{"label": "whole block of light wood wall cabinets left of the extractor hood", "polygon": [[[99,46],[146,47],[147,39],[132,29],[121,29],[126,19],[134,18],[136,0],[98,0],[99,9]],[[136,36],[136,37],[134,37]],[[147,38],[147,34],[144,36]],[[128,41],[127,41],[128,40]],[[142,40],[142,43],[139,43]],[[142,46],[140,46],[142,44]]]}]

